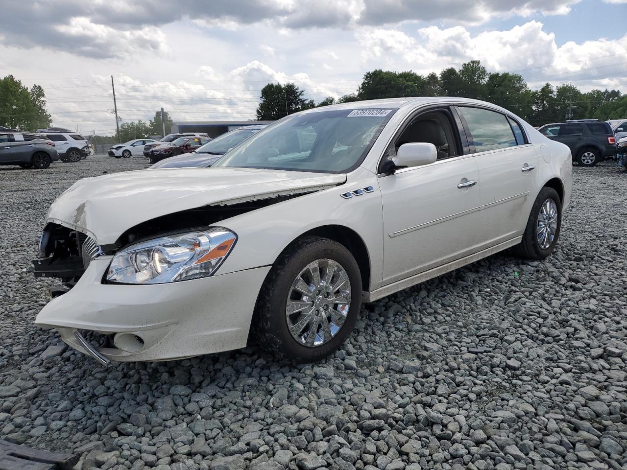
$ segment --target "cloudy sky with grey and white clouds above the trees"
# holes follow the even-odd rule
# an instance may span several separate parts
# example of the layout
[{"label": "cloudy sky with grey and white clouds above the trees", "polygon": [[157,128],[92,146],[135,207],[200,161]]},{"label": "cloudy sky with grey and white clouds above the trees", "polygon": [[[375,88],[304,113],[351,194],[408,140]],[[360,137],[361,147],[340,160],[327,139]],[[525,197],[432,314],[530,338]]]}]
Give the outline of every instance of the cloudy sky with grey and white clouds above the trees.
[{"label": "cloudy sky with grey and white clouds above the trees", "polygon": [[0,0],[0,76],[44,87],[53,125],[115,132],[255,118],[269,82],[315,102],[376,68],[421,75],[481,60],[530,88],[627,93],[627,0]]}]

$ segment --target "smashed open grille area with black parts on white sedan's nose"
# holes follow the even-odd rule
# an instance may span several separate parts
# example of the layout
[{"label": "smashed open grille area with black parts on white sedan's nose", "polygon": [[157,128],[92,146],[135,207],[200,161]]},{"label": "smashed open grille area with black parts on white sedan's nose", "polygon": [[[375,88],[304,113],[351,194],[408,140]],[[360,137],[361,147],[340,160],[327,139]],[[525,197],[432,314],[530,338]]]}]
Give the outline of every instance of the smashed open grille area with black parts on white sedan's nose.
[{"label": "smashed open grille area with black parts on white sedan's nose", "polygon": [[61,279],[50,288],[52,297],[70,290],[89,263],[102,254],[92,236],[53,222],[41,232],[39,249],[39,258],[33,259],[34,276]]}]

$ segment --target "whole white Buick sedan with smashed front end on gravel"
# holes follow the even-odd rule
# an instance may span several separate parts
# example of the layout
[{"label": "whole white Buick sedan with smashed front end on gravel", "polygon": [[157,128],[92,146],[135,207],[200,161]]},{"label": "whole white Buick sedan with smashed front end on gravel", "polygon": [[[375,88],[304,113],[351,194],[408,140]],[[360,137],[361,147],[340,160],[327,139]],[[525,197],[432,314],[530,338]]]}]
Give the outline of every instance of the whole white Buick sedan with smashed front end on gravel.
[{"label": "whole white Buick sedan with smashed front end on gravel", "polygon": [[[295,113],[213,167],[76,182],[34,260],[63,281],[35,323],[102,363],[246,346],[313,362],[370,302],[514,248],[547,258],[571,155],[463,98]],[[461,314],[463,315],[463,313]]]}]

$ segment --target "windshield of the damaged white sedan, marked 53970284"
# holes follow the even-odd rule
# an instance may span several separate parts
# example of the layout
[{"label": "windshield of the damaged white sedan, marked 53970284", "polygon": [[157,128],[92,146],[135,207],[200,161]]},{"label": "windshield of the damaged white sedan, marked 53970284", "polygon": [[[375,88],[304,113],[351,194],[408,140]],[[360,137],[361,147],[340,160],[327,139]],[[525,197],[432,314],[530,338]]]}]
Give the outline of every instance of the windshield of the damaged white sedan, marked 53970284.
[{"label": "windshield of the damaged white sedan, marked 53970284", "polygon": [[396,109],[297,113],[257,133],[214,167],[345,172],[361,163]]}]

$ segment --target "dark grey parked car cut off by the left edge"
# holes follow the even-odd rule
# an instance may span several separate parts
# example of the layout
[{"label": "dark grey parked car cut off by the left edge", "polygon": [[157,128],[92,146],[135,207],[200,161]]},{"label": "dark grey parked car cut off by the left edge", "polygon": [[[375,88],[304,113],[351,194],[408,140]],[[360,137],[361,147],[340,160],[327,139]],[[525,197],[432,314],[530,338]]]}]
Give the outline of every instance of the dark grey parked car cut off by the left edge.
[{"label": "dark grey parked car cut off by the left edge", "polygon": [[55,143],[45,135],[31,132],[0,132],[0,165],[48,168],[59,159]]}]

